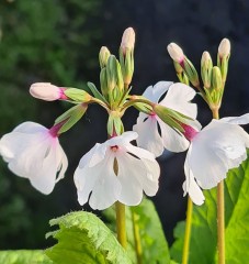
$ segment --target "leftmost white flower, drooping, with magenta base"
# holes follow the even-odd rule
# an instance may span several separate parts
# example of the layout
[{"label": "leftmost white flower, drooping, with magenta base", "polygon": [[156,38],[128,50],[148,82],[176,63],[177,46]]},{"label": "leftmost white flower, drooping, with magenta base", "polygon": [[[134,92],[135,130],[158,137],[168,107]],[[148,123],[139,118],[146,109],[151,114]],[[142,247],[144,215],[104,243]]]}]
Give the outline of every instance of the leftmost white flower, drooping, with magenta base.
[{"label": "leftmost white flower, drooping, with magenta base", "polygon": [[45,195],[52,193],[68,166],[57,127],[48,130],[34,122],[24,122],[0,140],[0,155],[10,170],[29,178],[33,187]]}]

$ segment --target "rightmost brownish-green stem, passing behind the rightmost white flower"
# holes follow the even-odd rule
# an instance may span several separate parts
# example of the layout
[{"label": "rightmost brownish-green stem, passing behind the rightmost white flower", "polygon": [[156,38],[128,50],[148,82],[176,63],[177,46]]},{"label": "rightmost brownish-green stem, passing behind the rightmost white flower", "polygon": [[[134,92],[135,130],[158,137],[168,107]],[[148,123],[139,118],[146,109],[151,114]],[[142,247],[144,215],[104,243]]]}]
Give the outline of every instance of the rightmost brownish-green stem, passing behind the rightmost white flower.
[{"label": "rightmost brownish-green stem, passing behind the rightmost white flower", "polygon": [[[212,110],[213,118],[219,119],[218,109]],[[225,264],[225,200],[224,200],[224,180],[217,186],[217,244],[218,244],[218,264]]]}]

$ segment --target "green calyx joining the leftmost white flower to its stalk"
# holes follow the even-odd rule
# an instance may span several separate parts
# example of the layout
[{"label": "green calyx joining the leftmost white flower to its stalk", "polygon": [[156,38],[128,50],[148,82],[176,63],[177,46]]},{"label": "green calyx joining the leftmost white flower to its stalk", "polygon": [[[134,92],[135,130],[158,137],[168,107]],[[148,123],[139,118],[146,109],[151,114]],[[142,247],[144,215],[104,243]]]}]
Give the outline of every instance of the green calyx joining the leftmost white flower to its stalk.
[{"label": "green calyx joining the leftmost white flower to its stalk", "polygon": [[58,117],[55,120],[55,124],[65,122],[61,128],[58,131],[58,134],[61,134],[66,131],[68,131],[71,127],[73,127],[84,114],[84,112],[88,109],[87,103],[80,103],[77,105],[69,110],[67,110],[65,113],[63,113],[60,117]]}]

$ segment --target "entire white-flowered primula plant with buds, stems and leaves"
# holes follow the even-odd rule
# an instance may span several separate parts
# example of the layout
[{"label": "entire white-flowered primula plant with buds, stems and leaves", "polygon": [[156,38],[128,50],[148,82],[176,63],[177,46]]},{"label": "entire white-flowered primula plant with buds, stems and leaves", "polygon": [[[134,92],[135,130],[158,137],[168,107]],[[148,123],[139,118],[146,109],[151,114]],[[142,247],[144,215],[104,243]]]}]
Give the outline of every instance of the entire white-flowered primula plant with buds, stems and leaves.
[{"label": "entire white-flowered primula plant with buds, stems and leaves", "polygon": [[[82,209],[88,202],[92,209],[102,210],[107,226],[91,212],[70,212],[50,220],[50,226],[59,226],[46,234],[58,240],[53,248],[2,251],[1,263],[247,263],[249,135],[240,125],[249,123],[249,113],[222,119],[218,114],[229,41],[224,38],[219,44],[217,66],[213,66],[207,52],[203,53],[201,78],[183,51],[169,44],[180,82],[158,81],[143,95],[134,95],[131,85],[134,45],[135,32],[128,28],[118,58],[101,47],[100,85],[97,88],[88,82],[91,92],[49,82],[33,84],[30,94],[34,98],[63,100],[72,107],[49,129],[24,122],[0,140],[0,154],[9,169],[48,195],[68,167],[59,138],[77,125],[89,105],[101,106],[109,114],[107,139],[82,155],[73,180]],[[213,113],[213,120],[203,129],[196,121],[197,106],[191,101],[195,95]],[[133,131],[125,131],[122,117],[131,107],[139,114]],[[177,227],[177,240],[170,250],[154,205],[145,197],[157,195],[160,166],[156,158],[165,150],[188,151],[182,164],[186,221]]]}]

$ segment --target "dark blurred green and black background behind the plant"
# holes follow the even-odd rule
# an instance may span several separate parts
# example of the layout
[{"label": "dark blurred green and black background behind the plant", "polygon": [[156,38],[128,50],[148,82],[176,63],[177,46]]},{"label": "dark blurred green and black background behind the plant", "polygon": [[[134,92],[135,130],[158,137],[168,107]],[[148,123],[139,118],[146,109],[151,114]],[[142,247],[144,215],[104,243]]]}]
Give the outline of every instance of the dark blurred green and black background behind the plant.
[{"label": "dark blurred green and black background behind the plant", "polygon": [[[167,45],[176,42],[200,68],[203,51],[216,62],[223,37],[231,42],[229,73],[222,117],[248,112],[249,105],[249,1],[247,0],[2,0],[0,2],[0,136],[26,120],[53,125],[68,105],[31,98],[30,85],[49,81],[83,88],[88,80],[99,86],[98,54],[106,45],[117,55],[123,31],[136,32],[133,94],[159,80],[177,81]],[[200,100],[199,119],[211,120]],[[137,112],[127,111],[126,130]],[[106,139],[106,114],[92,106],[83,119],[60,139],[69,160],[65,179],[49,196],[33,189],[26,179],[11,174],[0,161],[0,248],[48,246],[48,220],[80,210],[72,180],[80,157],[95,142]],[[185,153],[159,158],[160,189],[154,198],[171,243],[177,221],[184,219],[182,197]]]}]

